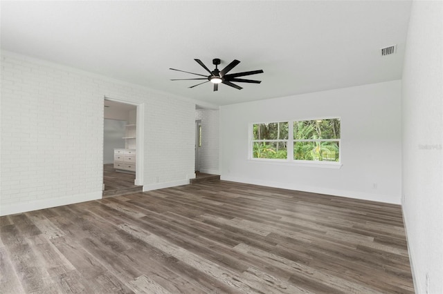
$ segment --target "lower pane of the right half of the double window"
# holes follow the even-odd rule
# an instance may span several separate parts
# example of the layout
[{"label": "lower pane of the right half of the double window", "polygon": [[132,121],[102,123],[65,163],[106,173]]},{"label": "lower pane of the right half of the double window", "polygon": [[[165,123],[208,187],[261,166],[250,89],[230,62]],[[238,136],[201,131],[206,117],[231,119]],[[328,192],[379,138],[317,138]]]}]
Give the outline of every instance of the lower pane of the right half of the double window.
[{"label": "lower pane of the right half of the double window", "polygon": [[339,161],[338,141],[293,142],[294,160]]}]

